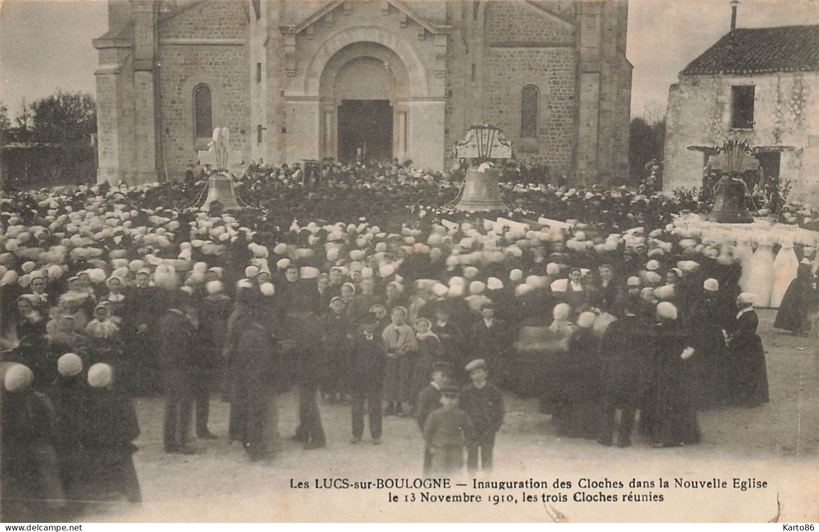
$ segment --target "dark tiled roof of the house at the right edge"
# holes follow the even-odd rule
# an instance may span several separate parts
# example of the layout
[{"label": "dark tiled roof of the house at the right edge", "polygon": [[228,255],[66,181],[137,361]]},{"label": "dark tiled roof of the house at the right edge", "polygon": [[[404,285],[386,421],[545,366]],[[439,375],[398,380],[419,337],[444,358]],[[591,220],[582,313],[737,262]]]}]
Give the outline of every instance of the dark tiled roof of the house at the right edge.
[{"label": "dark tiled roof of the house at the right edge", "polygon": [[760,74],[819,70],[819,25],[737,28],[681,75]]}]

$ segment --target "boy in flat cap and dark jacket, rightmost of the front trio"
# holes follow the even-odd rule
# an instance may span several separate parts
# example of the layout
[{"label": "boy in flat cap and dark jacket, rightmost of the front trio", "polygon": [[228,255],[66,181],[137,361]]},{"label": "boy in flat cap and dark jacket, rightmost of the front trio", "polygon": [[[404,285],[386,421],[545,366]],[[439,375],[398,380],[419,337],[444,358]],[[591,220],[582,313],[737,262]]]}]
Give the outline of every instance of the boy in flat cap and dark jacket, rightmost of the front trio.
[{"label": "boy in flat cap and dark jacket, rightmost of the front trio", "polygon": [[486,361],[482,358],[466,365],[472,384],[461,391],[460,405],[473,423],[473,439],[467,452],[467,469],[474,473],[478,469],[478,452],[482,471],[492,469],[492,451],[495,448],[495,433],[504,422],[504,398],[494,384],[487,381]]}]

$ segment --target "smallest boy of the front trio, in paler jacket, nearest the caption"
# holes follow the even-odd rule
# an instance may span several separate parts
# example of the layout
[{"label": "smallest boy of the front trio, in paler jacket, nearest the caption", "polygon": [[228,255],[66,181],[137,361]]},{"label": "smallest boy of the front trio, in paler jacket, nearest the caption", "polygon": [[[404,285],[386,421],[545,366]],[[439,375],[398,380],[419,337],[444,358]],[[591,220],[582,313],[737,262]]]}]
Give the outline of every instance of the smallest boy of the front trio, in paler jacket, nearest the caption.
[{"label": "smallest boy of the front trio, in paler jacket, nearest the caption", "polygon": [[441,389],[441,408],[423,424],[423,440],[432,454],[428,475],[452,475],[464,467],[464,446],[473,439],[472,421],[458,407],[455,386]]}]

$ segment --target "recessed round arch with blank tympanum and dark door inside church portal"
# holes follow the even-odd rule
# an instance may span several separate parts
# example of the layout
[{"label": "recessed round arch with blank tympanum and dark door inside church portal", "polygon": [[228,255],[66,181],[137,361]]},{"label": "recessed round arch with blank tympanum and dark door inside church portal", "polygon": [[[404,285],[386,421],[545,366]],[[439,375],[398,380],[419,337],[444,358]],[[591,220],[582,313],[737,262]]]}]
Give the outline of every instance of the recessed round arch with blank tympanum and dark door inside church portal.
[{"label": "recessed round arch with blank tympanum and dark door inside church portal", "polygon": [[330,57],[319,80],[322,155],[371,160],[407,153],[409,74],[400,57],[379,43],[351,43]]}]

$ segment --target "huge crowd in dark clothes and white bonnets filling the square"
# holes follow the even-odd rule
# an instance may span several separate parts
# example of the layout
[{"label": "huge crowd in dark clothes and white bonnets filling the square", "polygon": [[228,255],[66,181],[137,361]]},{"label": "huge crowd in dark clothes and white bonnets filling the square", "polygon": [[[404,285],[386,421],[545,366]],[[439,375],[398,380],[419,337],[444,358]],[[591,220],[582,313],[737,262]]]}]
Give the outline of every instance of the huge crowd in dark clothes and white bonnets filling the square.
[{"label": "huge crowd in dark clothes and white bonnets filling the square", "polygon": [[374,444],[382,416],[411,417],[424,472],[448,475],[464,451],[491,468],[501,390],[539,398],[558,434],[627,446],[639,419],[657,448],[698,442],[699,409],[767,402],[758,254],[792,270],[777,326],[811,328],[804,243],[691,229],[672,200],[619,189],[523,186],[553,225],[453,221],[455,184],[382,170],[305,189],[256,168],[231,213],[182,208],[192,182],[2,198],[3,518],[138,502],[134,396],[164,396],[165,452],[188,454],[194,408],[215,438],[222,395],[229,438],[265,460],[295,387],[305,449],[326,444],[319,399],[349,404],[351,443],[365,415]]}]

